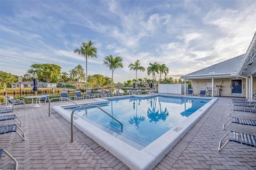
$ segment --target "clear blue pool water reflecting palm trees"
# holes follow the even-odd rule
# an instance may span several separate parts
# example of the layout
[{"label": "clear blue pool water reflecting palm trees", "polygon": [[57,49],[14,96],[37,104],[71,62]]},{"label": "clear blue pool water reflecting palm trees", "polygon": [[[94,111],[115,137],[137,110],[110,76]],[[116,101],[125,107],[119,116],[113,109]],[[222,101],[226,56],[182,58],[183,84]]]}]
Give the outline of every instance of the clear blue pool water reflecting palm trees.
[{"label": "clear blue pool water reflecting palm trees", "polygon": [[[91,107],[86,111],[79,109],[75,116],[137,149],[146,147],[210,101],[165,96],[108,100],[109,103],[99,106],[123,123],[123,132],[120,130],[121,125],[99,108]],[[65,109],[71,112],[74,108],[76,107]]]}]

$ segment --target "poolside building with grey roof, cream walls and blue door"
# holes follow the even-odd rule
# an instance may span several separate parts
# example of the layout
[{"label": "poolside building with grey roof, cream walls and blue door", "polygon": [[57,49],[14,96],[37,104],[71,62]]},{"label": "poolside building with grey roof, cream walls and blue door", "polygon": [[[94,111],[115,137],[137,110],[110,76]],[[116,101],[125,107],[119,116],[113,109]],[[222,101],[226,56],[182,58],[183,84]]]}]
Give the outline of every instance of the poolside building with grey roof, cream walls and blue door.
[{"label": "poolside building with grey roof, cream walls and blue door", "polygon": [[[246,54],[182,75],[191,80],[194,94],[253,98],[256,95],[256,32]],[[219,90],[218,90],[219,89]],[[212,92],[213,91],[213,92]]]}]

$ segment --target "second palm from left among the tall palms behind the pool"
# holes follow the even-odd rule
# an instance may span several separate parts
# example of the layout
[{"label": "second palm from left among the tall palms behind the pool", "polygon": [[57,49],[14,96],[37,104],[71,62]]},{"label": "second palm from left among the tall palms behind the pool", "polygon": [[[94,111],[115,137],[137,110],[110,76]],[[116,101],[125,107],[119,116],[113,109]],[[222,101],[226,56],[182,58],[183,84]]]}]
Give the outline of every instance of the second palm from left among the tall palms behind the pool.
[{"label": "second palm from left among the tall palms behind the pool", "polygon": [[112,80],[111,80],[111,91],[113,91],[113,73],[114,70],[118,68],[123,68],[123,58],[120,56],[116,56],[115,58],[112,55],[106,56],[103,60],[103,65],[109,67],[112,71]]}]

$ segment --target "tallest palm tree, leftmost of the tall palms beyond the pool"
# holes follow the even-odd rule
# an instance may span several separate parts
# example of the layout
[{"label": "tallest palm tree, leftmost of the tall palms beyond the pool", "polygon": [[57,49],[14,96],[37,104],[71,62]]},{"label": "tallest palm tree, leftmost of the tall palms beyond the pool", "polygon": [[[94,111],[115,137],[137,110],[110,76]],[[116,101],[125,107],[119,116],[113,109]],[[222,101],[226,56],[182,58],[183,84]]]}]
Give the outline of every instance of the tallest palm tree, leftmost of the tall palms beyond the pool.
[{"label": "tallest palm tree, leftmost of the tall palms beyond the pool", "polygon": [[87,59],[89,57],[91,58],[97,58],[97,52],[98,49],[93,46],[93,42],[89,40],[87,43],[82,43],[81,47],[77,47],[74,49],[74,53],[77,53],[78,55],[81,55],[85,58],[86,61],[86,86],[87,86]]}]

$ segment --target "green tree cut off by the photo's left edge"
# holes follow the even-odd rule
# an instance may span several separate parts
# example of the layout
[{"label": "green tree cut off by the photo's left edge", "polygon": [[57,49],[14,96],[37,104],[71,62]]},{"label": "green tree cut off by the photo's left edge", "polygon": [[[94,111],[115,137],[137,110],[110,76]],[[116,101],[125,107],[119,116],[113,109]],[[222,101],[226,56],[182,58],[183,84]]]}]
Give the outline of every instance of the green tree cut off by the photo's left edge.
[{"label": "green tree cut off by the photo's left edge", "polygon": [[5,90],[7,86],[10,86],[11,83],[14,83],[17,81],[18,81],[17,75],[0,71],[0,89]]}]

